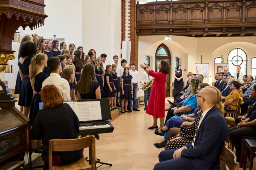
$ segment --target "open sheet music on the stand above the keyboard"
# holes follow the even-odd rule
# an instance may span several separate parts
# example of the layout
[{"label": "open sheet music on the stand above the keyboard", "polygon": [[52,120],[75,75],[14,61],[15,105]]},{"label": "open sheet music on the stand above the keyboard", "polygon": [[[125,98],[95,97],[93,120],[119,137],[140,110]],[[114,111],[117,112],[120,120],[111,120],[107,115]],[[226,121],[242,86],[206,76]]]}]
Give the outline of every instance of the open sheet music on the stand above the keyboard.
[{"label": "open sheet music on the stand above the keyboard", "polygon": [[100,101],[64,101],[76,113],[80,122],[102,120]]}]

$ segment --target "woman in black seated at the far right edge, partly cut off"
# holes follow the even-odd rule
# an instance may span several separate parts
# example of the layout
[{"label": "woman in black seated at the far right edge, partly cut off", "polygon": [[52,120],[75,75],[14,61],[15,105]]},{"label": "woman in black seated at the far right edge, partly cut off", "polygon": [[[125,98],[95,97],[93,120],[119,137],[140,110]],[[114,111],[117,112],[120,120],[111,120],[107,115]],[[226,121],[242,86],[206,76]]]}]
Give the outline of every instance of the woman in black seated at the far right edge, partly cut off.
[{"label": "woman in black seated at the far right edge, partly cut off", "polygon": [[[256,85],[251,88],[250,94],[253,98],[256,98]],[[247,119],[240,120],[237,124],[238,120],[231,120],[228,123],[230,125],[235,125],[234,127],[229,129],[229,139],[234,144],[237,151],[237,161],[240,162],[241,157],[241,145],[242,145],[242,137],[255,137],[256,136],[256,101],[252,103],[248,114],[245,116]],[[236,125],[236,124],[237,125]]]}]

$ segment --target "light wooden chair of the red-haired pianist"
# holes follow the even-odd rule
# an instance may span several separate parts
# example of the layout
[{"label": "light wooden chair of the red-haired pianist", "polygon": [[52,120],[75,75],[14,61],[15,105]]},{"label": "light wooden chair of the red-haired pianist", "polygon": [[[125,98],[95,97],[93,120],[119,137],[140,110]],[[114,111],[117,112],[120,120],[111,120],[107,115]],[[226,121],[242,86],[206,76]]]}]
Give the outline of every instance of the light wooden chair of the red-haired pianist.
[{"label": "light wooden chair of the red-haired pianist", "polygon": [[[85,160],[84,157],[79,159],[76,162],[68,165],[61,166],[53,166],[52,165],[52,152],[54,151],[76,151],[80,149],[84,149],[89,147],[89,159],[91,160],[91,165]],[[53,139],[49,141],[49,170],[78,170],[78,169],[86,169],[86,170],[95,170],[95,137],[87,136],[78,139]]]}]

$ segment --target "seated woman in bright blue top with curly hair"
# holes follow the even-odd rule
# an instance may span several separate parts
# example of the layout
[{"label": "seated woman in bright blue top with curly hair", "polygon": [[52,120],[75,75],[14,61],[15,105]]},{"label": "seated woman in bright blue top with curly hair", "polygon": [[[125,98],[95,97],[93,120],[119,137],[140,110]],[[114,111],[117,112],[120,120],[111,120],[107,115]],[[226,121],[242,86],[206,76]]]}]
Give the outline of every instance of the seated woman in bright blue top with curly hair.
[{"label": "seated woman in bright blue top with curly hair", "polygon": [[[182,114],[188,115],[188,114],[191,114],[194,112],[194,109],[197,106],[195,96],[197,94],[197,88],[200,83],[202,83],[202,81],[199,79],[191,80],[191,83],[189,84],[189,88],[191,91],[191,93],[189,94],[189,97],[183,101],[183,106],[181,106],[180,108],[174,107],[168,111],[166,119],[165,119],[165,126],[160,129],[157,129],[155,134],[161,134],[161,133],[164,133],[167,130],[169,130],[170,127],[169,127],[168,120],[170,118],[180,119],[180,115],[182,115]],[[166,133],[166,135],[167,135],[167,133]]]}]

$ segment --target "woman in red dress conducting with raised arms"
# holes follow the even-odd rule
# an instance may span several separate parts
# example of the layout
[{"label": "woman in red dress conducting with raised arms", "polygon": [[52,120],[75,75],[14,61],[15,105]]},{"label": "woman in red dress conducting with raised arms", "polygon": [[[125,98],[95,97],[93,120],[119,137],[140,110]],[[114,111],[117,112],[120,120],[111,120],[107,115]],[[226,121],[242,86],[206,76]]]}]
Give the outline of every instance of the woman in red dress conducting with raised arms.
[{"label": "woman in red dress conducting with raised arms", "polygon": [[146,113],[153,116],[153,125],[148,129],[157,129],[157,118],[160,119],[160,127],[164,126],[165,121],[165,82],[166,75],[170,73],[171,67],[166,61],[161,61],[157,68],[159,72],[154,72],[146,63],[140,64],[150,76],[154,78],[149,97]]}]

